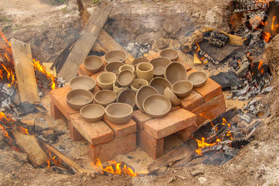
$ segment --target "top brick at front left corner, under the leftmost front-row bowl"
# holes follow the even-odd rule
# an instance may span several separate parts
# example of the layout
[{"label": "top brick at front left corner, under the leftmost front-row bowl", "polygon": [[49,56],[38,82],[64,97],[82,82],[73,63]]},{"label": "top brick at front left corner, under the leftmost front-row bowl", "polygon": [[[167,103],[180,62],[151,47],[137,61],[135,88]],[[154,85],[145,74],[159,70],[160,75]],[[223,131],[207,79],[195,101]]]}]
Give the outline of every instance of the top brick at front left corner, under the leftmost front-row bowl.
[{"label": "top brick at front left corner, under the leftmost front-row bowl", "polygon": [[77,113],[70,116],[70,123],[92,145],[104,144],[114,139],[112,130],[103,121],[88,122]]}]

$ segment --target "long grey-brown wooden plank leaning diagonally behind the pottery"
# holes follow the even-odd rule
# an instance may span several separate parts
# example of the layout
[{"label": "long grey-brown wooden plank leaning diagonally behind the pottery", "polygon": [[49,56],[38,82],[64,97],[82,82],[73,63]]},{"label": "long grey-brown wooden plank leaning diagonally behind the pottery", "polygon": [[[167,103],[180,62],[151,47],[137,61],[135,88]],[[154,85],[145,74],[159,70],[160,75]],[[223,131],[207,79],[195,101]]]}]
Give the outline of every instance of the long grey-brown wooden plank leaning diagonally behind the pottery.
[{"label": "long grey-brown wooden plank leaning diagonally behind the pottery", "polygon": [[96,8],[96,11],[89,18],[82,33],[80,33],[80,38],[75,42],[75,45],[65,64],[61,68],[58,77],[63,77],[66,82],[69,82],[70,79],[77,75],[83,59],[89,54],[91,48],[96,42],[111,10],[111,3],[100,1],[98,8]]}]

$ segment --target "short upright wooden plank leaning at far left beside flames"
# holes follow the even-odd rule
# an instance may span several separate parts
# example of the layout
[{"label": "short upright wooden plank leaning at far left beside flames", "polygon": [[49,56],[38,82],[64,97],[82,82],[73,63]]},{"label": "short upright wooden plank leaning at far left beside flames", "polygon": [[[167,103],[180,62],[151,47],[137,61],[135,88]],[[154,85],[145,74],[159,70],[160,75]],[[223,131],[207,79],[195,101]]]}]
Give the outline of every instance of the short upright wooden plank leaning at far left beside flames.
[{"label": "short upright wooden plank leaning at far left beside flames", "polygon": [[20,93],[21,102],[40,102],[38,86],[36,82],[31,47],[20,40],[10,40],[15,61],[15,75]]}]

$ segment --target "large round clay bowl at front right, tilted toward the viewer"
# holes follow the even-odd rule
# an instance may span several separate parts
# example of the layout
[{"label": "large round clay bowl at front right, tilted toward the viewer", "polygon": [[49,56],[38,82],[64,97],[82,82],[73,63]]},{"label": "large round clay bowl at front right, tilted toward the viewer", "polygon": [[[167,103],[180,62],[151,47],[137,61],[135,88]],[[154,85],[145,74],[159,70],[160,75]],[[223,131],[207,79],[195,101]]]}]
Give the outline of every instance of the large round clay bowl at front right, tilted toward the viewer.
[{"label": "large round clay bowl at front right, tilted toward the viewer", "polygon": [[153,118],[160,118],[167,115],[172,108],[172,103],[165,95],[149,95],[144,100],[143,108],[147,115]]}]

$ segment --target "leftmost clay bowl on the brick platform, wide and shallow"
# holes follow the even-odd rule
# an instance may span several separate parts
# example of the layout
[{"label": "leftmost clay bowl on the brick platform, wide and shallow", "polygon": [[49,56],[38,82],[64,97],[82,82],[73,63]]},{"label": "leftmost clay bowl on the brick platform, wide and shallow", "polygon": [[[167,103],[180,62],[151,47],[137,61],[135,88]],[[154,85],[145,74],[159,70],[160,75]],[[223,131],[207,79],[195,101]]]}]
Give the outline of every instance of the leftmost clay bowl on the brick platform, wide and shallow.
[{"label": "leftmost clay bowl on the brick platform, wide and shallow", "polygon": [[75,110],[80,110],[84,105],[93,102],[93,94],[83,89],[75,89],[67,93],[66,102]]}]

